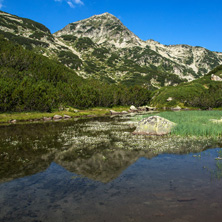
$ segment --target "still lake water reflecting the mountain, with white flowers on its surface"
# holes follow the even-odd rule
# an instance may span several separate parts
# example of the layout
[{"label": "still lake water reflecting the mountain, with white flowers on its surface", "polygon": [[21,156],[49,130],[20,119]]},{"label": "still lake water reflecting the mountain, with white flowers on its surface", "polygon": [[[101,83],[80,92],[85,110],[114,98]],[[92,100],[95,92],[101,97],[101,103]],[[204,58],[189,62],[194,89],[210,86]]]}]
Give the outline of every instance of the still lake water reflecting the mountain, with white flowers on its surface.
[{"label": "still lake water reflecting the mountain, with white flowers on its surface", "polygon": [[133,135],[136,122],[0,126],[0,221],[221,221],[221,141]]}]

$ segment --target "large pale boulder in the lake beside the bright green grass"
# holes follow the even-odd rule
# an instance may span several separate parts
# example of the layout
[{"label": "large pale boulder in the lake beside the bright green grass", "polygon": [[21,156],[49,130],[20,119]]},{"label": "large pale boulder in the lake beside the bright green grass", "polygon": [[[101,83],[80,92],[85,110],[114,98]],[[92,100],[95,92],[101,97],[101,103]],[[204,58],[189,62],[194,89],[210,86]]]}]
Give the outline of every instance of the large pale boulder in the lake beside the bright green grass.
[{"label": "large pale boulder in the lake beside the bright green grass", "polygon": [[176,125],[163,117],[150,116],[142,119],[133,134],[142,135],[166,135],[171,132],[172,128]]}]

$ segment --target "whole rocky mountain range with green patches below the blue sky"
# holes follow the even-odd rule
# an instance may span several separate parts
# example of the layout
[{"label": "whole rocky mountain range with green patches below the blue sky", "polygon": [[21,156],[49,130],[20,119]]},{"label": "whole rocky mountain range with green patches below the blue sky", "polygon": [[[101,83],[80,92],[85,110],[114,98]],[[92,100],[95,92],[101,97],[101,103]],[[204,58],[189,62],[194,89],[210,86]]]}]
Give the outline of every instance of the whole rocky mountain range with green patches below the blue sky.
[{"label": "whole rocky mountain range with green patches below the blue sky", "polygon": [[84,78],[161,87],[203,76],[222,64],[222,53],[188,45],[142,41],[104,13],[54,33],[37,22],[0,11],[0,34],[76,70]]}]

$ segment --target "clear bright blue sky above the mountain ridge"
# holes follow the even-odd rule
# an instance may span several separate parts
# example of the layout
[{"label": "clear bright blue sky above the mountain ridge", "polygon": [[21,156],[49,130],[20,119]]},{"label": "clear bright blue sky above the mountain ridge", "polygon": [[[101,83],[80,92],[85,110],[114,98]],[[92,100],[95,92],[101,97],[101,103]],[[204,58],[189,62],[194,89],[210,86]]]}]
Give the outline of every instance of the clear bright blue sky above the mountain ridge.
[{"label": "clear bright blue sky above the mountain ridge", "polygon": [[143,40],[222,52],[221,0],[0,0],[0,9],[47,26],[109,12]]}]

